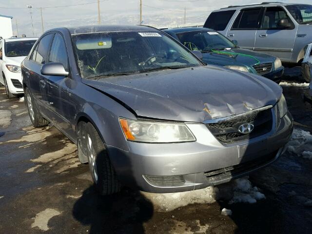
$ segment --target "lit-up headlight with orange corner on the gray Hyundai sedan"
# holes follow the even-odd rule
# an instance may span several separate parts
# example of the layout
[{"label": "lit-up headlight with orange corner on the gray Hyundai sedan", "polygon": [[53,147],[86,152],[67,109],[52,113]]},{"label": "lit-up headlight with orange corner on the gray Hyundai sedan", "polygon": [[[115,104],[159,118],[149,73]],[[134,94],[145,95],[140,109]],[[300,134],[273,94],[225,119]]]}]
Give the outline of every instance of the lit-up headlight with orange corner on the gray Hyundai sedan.
[{"label": "lit-up headlight with orange corner on the gray Hyundai sedan", "polygon": [[127,140],[151,143],[195,141],[195,137],[183,123],[162,123],[119,118]]}]

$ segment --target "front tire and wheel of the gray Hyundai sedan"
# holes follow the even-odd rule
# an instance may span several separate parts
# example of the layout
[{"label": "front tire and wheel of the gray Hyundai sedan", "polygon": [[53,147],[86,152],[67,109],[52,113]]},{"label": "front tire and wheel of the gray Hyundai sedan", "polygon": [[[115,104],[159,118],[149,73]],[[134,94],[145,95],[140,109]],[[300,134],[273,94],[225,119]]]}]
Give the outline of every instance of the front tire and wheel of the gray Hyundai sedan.
[{"label": "front tire and wheel of the gray Hyundai sedan", "polygon": [[111,195],[120,191],[120,182],[110,162],[105,145],[98,131],[90,123],[86,123],[83,135],[91,176],[101,195]]}]

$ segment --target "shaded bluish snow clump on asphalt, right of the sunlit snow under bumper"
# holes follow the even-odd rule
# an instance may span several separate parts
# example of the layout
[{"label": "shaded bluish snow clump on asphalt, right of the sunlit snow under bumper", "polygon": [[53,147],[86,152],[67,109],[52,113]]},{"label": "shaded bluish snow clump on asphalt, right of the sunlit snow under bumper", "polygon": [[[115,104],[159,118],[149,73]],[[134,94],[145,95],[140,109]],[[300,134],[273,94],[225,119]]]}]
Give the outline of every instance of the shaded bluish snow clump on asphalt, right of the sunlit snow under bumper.
[{"label": "shaded bluish snow clump on asphalt, right of the sunlit snow under bumper", "polygon": [[235,180],[236,186],[234,187],[234,196],[229,201],[229,204],[245,202],[256,203],[257,200],[265,199],[265,195],[258,191],[256,186],[248,180],[248,177],[238,178]]}]

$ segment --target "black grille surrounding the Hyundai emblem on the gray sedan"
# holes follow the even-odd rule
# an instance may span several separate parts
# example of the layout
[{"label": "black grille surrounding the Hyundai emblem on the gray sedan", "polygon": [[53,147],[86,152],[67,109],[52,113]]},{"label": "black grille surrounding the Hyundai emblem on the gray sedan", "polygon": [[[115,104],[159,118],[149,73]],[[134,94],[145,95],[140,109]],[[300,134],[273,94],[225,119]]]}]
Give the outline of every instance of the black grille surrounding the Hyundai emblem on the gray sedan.
[{"label": "black grille surrounding the Hyundai emblem on the gray sedan", "polygon": [[[254,130],[250,134],[242,134],[238,131],[239,126],[244,123],[254,125]],[[272,108],[254,110],[225,120],[206,124],[210,132],[223,143],[233,143],[264,135],[272,130],[272,125]]]}]

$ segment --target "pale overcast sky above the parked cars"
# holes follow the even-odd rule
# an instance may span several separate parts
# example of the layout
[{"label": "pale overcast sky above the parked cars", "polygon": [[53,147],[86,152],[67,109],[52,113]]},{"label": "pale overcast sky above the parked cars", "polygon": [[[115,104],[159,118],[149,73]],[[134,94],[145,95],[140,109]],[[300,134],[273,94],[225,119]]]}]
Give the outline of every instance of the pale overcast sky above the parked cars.
[{"label": "pale overcast sky above the parked cars", "polygon": [[[260,0],[261,1],[261,0]],[[258,1],[258,2],[260,2]],[[263,0],[265,1],[265,0]],[[145,24],[164,26],[197,23],[207,19],[211,11],[229,5],[249,4],[256,0],[142,0]],[[310,3],[311,0],[284,0],[284,2]],[[90,4],[85,4],[90,3]],[[0,0],[0,15],[12,16],[13,34],[32,36],[31,17],[27,4],[32,4],[34,33],[42,33],[40,7],[44,31],[60,26],[77,26],[98,22],[97,0]],[[76,5],[77,6],[65,6]],[[61,6],[61,7],[56,7]],[[138,24],[139,0],[100,0],[102,24]]]}]

